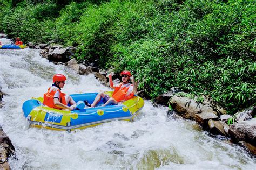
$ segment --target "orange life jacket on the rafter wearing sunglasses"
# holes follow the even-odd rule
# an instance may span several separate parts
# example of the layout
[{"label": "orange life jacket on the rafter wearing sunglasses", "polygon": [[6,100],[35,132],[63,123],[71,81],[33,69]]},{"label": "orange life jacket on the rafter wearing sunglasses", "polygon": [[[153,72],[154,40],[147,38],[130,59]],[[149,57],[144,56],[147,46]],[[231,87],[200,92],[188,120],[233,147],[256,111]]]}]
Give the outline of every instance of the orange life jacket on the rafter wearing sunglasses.
[{"label": "orange life jacket on the rafter wearing sunglasses", "polygon": [[[130,85],[131,86],[131,85]],[[123,86],[122,84],[120,84],[119,86],[117,86],[114,89],[114,93],[112,95],[112,97],[114,98],[114,100],[116,100],[117,102],[123,101],[123,100],[129,100],[130,98],[132,98],[134,96],[134,93],[132,92],[131,94],[127,95],[127,92],[129,90],[129,87]]]}]

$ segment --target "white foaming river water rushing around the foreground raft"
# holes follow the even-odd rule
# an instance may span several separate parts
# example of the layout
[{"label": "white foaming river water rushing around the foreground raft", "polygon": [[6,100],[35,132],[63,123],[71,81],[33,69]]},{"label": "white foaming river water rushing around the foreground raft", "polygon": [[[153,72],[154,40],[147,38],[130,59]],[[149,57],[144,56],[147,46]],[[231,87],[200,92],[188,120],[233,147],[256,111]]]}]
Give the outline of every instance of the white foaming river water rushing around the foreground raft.
[{"label": "white foaming river water rushing around the foreground raft", "polygon": [[[8,39],[0,41],[9,42]],[[0,83],[7,94],[0,124],[16,148],[12,169],[255,169],[240,147],[209,137],[193,121],[167,117],[166,107],[145,101],[134,122],[114,121],[66,131],[29,128],[22,104],[43,96],[52,75],[68,78],[64,93],[110,90],[93,75],[77,75],[41,58],[36,49],[0,50]]]}]

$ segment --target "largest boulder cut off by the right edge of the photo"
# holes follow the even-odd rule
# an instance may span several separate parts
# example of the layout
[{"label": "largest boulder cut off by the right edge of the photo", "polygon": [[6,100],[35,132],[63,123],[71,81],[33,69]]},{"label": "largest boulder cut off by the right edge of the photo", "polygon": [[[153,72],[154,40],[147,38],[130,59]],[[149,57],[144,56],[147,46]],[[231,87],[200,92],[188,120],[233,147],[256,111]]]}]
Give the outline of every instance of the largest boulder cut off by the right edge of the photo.
[{"label": "largest boulder cut off by the right edge of the photo", "polygon": [[255,146],[256,118],[232,124],[228,130],[228,134],[230,134],[230,137],[234,142],[245,141]]}]

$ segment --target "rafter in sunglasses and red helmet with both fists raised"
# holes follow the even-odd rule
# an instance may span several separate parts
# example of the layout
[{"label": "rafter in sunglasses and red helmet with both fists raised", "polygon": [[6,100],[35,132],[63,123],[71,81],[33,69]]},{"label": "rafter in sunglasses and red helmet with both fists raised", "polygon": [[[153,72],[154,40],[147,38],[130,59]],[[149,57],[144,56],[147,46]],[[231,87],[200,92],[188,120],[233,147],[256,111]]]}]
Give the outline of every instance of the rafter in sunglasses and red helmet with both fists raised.
[{"label": "rafter in sunglasses and red helmet with both fists raised", "polygon": [[[106,106],[108,104],[117,104],[118,102],[123,102],[132,98],[134,94],[137,93],[134,77],[131,76],[131,72],[129,71],[123,71],[120,76],[122,77],[122,83],[117,85],[114,85],[111,74],[107,76],[109,77],[110,87],[114,89],[112,97],[105,93],[98,93],[92,104],[89,104],[86,101],[85,104],[89,107],[95,107],[99,103],[100,99],[103,98],[103,106]],[[130,80],[132,81],[132,84],[130,83]]]}]

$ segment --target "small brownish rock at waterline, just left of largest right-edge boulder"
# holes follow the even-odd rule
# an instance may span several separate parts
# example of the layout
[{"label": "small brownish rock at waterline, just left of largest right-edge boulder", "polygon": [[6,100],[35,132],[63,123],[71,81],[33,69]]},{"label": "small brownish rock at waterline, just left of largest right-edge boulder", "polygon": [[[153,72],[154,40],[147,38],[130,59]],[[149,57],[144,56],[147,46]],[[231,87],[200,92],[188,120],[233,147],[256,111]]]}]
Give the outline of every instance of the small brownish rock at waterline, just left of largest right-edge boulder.
[{"label": "small brownish rock at waterline, just left of largest right-edge boulder", "polygon": [[225,133],[225,130],[224,130],[225,124],[226,123],[222,122],[222,121],[213,121],[213,120],[208,121],[208,126],[210,128],[210,132],[212,134],[217,134],[217,135],[220,134],[222,136],[227,136],[227,134]]}]

